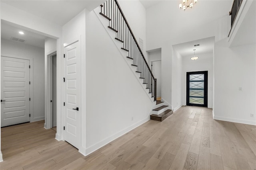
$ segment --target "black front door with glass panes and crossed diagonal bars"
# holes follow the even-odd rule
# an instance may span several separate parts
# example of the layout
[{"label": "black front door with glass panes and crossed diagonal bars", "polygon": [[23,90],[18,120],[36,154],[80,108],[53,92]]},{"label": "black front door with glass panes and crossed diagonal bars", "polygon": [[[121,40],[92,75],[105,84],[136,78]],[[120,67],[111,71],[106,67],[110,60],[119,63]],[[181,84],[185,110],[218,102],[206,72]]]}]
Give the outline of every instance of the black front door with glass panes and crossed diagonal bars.
[{"label": "black front door with glass panes and crossed diagonal bars", "polygon": [[187,106],[207,107],[208,71],[187,72]]}]

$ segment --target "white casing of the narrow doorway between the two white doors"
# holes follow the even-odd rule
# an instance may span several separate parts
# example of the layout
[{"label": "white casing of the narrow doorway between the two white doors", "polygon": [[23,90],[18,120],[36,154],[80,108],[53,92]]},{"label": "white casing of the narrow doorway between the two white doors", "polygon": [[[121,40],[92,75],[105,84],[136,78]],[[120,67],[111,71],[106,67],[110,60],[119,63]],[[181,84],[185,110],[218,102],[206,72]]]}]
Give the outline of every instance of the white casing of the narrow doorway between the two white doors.
[{"label": "white casing of the narrow doorway between the two white doors", "polygon": [[[44,128],[52,128],[52,56],[57,55],[57,51],[50,51],[46,57],[46,82],[45,82],[45,123]],[[57,57],[56,57],[57,61]],[[57,101],[56,101],[57,103]]]}]

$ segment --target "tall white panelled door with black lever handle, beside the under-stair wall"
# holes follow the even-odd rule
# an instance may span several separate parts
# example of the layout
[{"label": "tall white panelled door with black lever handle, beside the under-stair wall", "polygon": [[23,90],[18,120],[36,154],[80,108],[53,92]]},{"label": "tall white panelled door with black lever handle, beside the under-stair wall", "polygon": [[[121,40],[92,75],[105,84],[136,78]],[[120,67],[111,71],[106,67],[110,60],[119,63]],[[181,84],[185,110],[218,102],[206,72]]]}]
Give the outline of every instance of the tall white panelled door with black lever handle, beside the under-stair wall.
[{"label": "tall white panelled door with black lever handle, beside the under-stair wall", "polygon": [[65,141],[81,146],[81,48],[80,42],[65,47]]}]

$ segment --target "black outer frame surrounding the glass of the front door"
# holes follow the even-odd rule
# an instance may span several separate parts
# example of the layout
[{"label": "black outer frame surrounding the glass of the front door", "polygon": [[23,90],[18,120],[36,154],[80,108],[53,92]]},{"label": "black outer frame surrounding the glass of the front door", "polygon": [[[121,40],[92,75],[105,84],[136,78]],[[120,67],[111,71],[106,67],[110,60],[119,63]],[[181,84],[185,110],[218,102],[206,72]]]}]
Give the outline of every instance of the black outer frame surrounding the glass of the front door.
[{"label": "black outer frame surrounding the glass of the front door", "polygon": [[[204,104],[190,104],[189,103],[189,76],[190,74],[204,74]],[[186,87],[186,106],[201,106],[201,107],[208,107],[208,70],[205,71],[193,71],[193,72],[186,72],[186,82],[185,82],[185,87]]]}]

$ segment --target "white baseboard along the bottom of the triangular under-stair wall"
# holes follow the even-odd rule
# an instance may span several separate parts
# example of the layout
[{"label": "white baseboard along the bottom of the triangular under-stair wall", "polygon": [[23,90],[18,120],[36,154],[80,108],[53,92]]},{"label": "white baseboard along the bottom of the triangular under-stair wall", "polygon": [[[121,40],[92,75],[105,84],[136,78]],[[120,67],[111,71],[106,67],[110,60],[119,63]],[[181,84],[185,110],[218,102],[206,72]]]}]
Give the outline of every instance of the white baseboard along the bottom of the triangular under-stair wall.
[{"label": "white baseboard along the bottom of the triangular under-stair wall", "polygon": [[[142,121],[139,121],[138,123],[135,123],[133,125],[131,125],[130,127],[127,127],[126,129],[123,129],[122,131],[119,131],[118,133],[100,141],[99,143],[96,143],[95,145],[92,145],[91,147],[88,147],[86,149],[86,155],[94,152],[95,150],[103,147],[104,145],[107,145],[108,143],[110,143],[111,141],[114,141],[115,139],[117,139],[118,137],[128,133],[129,131],[131,131],[132,129],[142,125],[143,123],[147,122],[150,120],[150,116],[148,116],[146,119],[143,119]],[[83,153],[82,153],[83,154]]]}]

